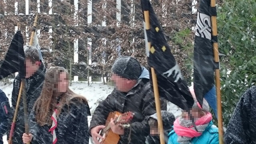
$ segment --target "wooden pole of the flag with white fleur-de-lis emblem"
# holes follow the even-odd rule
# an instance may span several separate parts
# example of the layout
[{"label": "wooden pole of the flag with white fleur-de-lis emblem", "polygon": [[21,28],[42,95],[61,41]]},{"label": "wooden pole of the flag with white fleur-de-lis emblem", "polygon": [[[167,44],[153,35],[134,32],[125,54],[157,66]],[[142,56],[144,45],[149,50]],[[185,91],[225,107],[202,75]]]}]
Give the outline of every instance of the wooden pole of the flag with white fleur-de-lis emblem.
[{"label": "wooden pole of the flag with white fleur-de-lis emblem", "polygon": [[[215,7],[215,0],[211,0],[211,7]],[[217,37],[217,18],[211,16],[212,21],[212,36]],[[214,61],[219,63],[218,55],[218,43],[213,44]],[[215,80],[216,80],[216,94],[217,94],[217,113],[218,113],[218,132],[219,132],[219,143],[224,144],[223,140],[223,124],[222,124],[222,110],[221,110],[221,92],[220,92],[220,70],[215,69]]]}]

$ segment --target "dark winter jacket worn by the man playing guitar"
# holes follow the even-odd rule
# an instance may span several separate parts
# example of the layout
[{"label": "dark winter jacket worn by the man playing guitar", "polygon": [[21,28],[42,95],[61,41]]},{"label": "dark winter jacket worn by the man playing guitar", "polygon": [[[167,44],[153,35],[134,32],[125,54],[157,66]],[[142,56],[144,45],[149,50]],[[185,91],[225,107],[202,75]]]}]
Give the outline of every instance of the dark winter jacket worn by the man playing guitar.
[{"label": "dark winter jacket worn by the man playing guitar", "polygon": [[[137,80],[137,84],[128,92],[123,93],[113,90],[104,101],[101,101],[92,115],[89,133],[92,128],[98,125],[105,125],[110,112],[118,111],[125,113],[131,111],[134,117],[131,121],[131,141],[130,144],[145,143],[149,135],[148,118],[156,113],[155,98],[149,83],[149,72],[142,68],[142,74]],[[166,110],[165,100],[161,101],[161,109]],[[120,136],[119,144],[128,144],[130,128],[125,129],[125,134]]]}]

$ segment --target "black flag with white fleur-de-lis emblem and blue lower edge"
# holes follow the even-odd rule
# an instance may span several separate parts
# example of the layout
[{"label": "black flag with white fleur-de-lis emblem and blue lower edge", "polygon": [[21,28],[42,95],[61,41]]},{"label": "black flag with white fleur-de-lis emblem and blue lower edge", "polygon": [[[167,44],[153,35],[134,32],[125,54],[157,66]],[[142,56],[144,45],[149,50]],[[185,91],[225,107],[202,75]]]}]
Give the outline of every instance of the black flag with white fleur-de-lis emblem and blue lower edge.
[{"label": "black flag with white fleur-de-lis emblem and blue lower edge", "polygon": [[[219,64],[214,62],[213,42],[217,36],[212,36],[211,17],[216,16],[216,7],[210,6],[210,0],[201,0],[197,13],[197,25],[194,41],[194,92],[197,101],[202,106],[203,98],[217,114],[217,99],[214,80],[214,69]],[[216,115],[217,116],[217,115]]]}]

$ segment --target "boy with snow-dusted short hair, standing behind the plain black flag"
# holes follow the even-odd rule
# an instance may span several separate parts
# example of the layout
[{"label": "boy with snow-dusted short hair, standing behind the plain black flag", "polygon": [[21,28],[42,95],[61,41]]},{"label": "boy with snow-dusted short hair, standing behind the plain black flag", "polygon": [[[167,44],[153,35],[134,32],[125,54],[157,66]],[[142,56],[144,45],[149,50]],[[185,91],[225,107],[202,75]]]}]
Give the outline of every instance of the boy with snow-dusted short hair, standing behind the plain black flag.
[{"label": "boy with snow-dusted short hair, standing behind the plain black flag", "polygon": [[[42,60],[39,58],[38,49],[34,46],[26,45],[24,46],[24,53],[25,53],[25,68],[26,68],[26,75],[25,75],[25,86],[26,86],[26,97],[27,97],[27,106],[28,106],[28,113],[31,112],[32,107],[35,104],[36,99],[40,96],[43,82],[44,82],[44,75],[45,75],[45,68]],[[13,91],[11,97],[12,103],[12,110],[14,111],[16,108],[18,95],[20,91],[21,85],[21,77],[18,74],[14,78],[13,82]],[[13,116],[10,117],[9,126],[8,126],[8,133],[7,133],[7,140],[9,140],[10,130],[11,130],[11,122],[13,120]],[[23,102],[19,104],[19,109],[17,113],[16,123],[14,127],[14,133],[12,137],[12,144],[20,144],[22,143],[22,134],[25,132],[24,127],[24,110],[23,110]]]}]

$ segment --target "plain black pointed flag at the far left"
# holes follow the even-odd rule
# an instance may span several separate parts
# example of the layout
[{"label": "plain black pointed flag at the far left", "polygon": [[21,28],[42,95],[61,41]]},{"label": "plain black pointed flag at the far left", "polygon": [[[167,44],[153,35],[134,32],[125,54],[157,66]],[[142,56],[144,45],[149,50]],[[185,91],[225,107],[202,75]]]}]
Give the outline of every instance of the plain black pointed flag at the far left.
[{"label": "plain black pointed flag at the far left", "polygon": [[0,67],[0,80],[16,72],[19,72],[21,78],[25,78],[23,44],[23,36],[17,31]]}]

